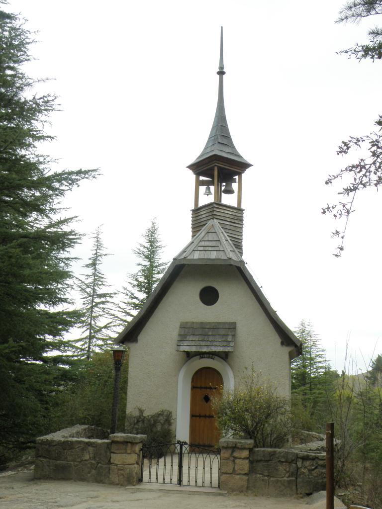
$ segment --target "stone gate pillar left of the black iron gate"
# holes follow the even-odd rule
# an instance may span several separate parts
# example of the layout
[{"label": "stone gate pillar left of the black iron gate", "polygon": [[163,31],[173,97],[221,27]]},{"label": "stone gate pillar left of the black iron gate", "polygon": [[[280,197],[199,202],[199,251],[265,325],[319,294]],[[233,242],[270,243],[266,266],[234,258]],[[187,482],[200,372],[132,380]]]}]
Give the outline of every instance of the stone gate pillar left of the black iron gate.
[{"label": "stone gate pillar left of the black iron gate", "polygon": [[114,433],[110,465],[110,483],[121,486],[135,486],[139,483],[142,462],[142,445],[146,435]]}]

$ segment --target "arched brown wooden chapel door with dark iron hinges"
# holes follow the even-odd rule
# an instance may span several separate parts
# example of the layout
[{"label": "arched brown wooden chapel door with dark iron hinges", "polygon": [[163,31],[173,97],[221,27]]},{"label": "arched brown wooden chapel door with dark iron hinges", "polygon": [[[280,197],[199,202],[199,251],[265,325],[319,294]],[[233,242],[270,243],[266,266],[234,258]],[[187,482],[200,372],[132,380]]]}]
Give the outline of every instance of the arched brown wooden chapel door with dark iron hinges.
[{"label": "arched brown wooden chapel door with dark iron hinges", "polygon": [[215,423],[211,397],[223,387],[222,375],[213,367],[202,367],[194,373],[191,381],[189,415],[189,443],[203,447],[215,447],[219,431]]}]

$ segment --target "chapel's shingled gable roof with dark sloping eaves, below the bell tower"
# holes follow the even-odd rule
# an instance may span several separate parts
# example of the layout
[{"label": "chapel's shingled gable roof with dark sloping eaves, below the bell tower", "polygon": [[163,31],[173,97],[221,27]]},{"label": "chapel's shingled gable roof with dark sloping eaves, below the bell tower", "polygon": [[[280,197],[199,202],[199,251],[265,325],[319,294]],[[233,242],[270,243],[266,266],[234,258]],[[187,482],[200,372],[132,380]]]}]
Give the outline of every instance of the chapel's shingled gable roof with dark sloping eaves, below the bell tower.
[{"label": "chapel's shingled gable roof with dark sloping eaves, below the bell tower", "polygon": [[[213,237],[213,238],[209,238]],[[218,239],[216,239],[216,237]],[[210,245],[206,245],[206,243]],[[196,254],[197,253],[197,254]],[[215,258],[211,258],[215,253]],[[218,254],[219,253],[219,254]],[[279,318],[272,309],[268,300],[260,290],[252,274],[245,266],[243,259],[237,252],[232,242],[222,230],[216,219],[211,219],[205,227],[189,242],[184,249],[174,258],[169,268],[163,274],[154,291],[151,293],[140,312],[117,336],[117,343],[132,343],[138,341],[140,332],[149,321],[161,300],[170,290],[176,278],[186,265],[234,265],[251,290],[256,301],[262,308],[266,317],[280,337],[282,345],[294,346],[295,351],[291,352],[291,358],[297,355],[301,348],[301,342],[293,332]]]}]

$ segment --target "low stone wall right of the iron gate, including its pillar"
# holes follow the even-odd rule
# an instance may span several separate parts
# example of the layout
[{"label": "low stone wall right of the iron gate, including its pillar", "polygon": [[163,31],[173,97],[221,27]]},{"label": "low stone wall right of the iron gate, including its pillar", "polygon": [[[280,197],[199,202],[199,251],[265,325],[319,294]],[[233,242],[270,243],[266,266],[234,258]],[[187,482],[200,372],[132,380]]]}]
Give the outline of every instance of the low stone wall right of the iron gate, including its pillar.
[{"label": "low stone wall right of the iron gate, including its pillar", "polygon": [[220,447],[223,490],[293,496],[326,489],[325,453],[257,449],[253,440],[222,439]]}]

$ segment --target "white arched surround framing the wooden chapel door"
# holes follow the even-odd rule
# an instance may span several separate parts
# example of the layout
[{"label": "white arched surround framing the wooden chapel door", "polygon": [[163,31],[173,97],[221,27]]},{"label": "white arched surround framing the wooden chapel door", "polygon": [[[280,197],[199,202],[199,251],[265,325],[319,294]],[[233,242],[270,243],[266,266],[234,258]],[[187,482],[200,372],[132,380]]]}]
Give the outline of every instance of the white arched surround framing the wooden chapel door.
[{"label": "white arched surround framing the wooden chapel door", "polygon": [[192,357],[179,372],[178,404],[176,412],[176,439],[189,441],[189,405],[191,396],[191,380],[201,367],[213,367],[223,377],[224,390],[233,390],[235,379],[231,367],[220,357]]}]

